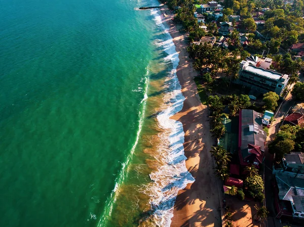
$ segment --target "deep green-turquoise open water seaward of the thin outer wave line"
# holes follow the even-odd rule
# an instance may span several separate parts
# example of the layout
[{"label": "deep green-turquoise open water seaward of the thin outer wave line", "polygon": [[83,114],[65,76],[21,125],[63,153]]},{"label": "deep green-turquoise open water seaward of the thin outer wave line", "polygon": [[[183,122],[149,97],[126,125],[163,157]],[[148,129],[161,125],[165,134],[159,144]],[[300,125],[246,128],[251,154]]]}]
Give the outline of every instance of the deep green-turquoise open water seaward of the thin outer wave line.
[{"label": "deep green-turquoise open water seaward of the thin outer wave line", "polygon": [[154,22],[127,0],[0,3],[0,226],[96,226],[139,126]]}]

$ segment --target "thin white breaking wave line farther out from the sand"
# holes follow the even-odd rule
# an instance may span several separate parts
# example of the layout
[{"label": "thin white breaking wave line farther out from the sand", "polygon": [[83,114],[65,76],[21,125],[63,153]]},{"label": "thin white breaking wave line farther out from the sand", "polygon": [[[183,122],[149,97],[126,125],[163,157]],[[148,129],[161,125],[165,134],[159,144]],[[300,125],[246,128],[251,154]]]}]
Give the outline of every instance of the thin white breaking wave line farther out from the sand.
[{"label": "thin white breaking wave line farther out from the sand", "polygon": [[[112,190],[110,196],[107,198],[106,203],[105,203],[105,208],[103,210],[103,214],[98,222],[98,227],[103,227],[107,225],[107,221],[108,221],[108,217],[111,216],[112,213],[112,209],[113,209],[113,205],[116,202],[116,199],[119,195],[119,188],[122,185],[124,179],[127,177],[127,173],[128,173],[128,164],[130,163],[130,161],[132,160],[132,156],[133,153],[135,151],[135,148],[138,144],[138,140],[139,140],[139,135],[141,132],[141,128],[142,128],[142,124],[143,124],[143,119],[144,119],[144,114],[145,114],[145,109],[146,109],[146,100],[147,100],[147,92],[148,92],[148,82],[149,82],[149,78],[148,78],[148,74],[149,71],[147,69],[146,74],[144,76],[144,97],[141,100],[140,104],[142,105],[142,111],[139,111],[138,113],[138,117],[139,117],[139,125],[138,125],[138,130],[137,130],[137,134],[136,134],[136,139],[135,142],[133,144],[133,147],[131,149],[131,152],[129,153],[126,162],[122,163],[122,169],[119,173],[119,176],[116,178],[115,180],[115,187]],[[143,80],[141,80],[143,81]]]}]

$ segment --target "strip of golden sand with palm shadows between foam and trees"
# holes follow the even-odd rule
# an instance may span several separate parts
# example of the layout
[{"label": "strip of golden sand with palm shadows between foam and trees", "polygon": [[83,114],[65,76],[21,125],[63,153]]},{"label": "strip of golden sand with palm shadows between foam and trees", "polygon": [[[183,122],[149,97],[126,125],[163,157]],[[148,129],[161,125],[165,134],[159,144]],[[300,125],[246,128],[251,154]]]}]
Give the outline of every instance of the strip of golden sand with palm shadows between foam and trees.
[{"label": "strip of golden sand with palm shadows between foam and trees", "polygon": [[194,81],[197,72],[192,69],[183,34],[173,24],[173,14],[166,6],[161,12],[179,54],[177,77],[185,97],[182,110],[172,118],[183,124],[186,168],[195,178],[194,183],[178,192],[171,226],[221,226],[221,182],[215,176],[214,162],[209,152],[215,144],[209,131],[209,111],[200,101]]}]

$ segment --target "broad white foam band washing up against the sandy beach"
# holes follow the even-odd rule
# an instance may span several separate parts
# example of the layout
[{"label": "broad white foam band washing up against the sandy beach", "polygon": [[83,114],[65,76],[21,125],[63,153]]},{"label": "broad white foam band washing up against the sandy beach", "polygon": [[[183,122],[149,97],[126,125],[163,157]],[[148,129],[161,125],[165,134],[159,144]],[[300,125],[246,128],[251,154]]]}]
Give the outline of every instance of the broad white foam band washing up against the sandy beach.
[{"label": "broad white foam band washing up against the sandy beach", "polygon": [[173,63],[173,69],[165,81],[167,93],[163,98],[164,105],[161,107],[163,111],[157,116],[159,127],[164,129],[164,132],[159,133],[162,143],[158,147],[158,156],[155,158],[163,165],[150,174],[150,178],[154,182],[149,184],[143,192],[150,196],[154,222],[158,226],[167,227],[171,224],[178,191],[185,188],[188,183],[193,183],[195,179],[185,167],[182,123],[170,119],[182,109],[185,99],[176,76],[176,67],[179,62],[178,53],[168,28],[162,23],[159,10],[151,10],[151,15],[154,16],[156,24],[165,31],[166,40],[158,42],[157,46],[163,47],[163,50],[168,54],[165,60]]}]

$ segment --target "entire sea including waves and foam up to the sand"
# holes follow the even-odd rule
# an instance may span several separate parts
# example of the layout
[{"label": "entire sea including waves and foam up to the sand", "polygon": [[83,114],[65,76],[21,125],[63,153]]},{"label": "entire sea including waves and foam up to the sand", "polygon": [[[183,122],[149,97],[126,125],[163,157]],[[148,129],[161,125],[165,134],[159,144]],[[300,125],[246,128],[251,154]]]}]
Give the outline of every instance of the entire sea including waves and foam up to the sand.
[{"label": "entire sea including waves and foam up to the sand", "polygon": [[192,178],[155,4],[0,2],[0,226],[168,225]]}]

